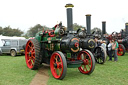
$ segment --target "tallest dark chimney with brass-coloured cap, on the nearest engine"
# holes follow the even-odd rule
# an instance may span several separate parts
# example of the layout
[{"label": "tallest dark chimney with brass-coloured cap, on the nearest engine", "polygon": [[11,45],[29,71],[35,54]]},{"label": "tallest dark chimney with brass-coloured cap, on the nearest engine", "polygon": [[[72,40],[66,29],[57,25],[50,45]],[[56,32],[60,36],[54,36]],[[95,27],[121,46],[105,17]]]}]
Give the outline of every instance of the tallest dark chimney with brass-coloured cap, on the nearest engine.
[{"label": "tallest dark chimney with brass-coloured cap, on the nearest engine", "polygon": [[73,31],[73,20],[72,20],[72,8],[74,7],[72,4],[66,4],[67,8],[67,31]]}]

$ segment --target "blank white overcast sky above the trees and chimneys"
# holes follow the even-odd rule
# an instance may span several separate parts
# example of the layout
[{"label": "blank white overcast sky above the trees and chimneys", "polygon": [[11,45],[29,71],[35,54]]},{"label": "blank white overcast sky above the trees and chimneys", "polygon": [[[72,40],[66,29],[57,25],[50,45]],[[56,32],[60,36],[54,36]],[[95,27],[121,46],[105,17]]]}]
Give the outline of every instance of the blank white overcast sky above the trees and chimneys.
[{"label": "blank white overcast sky above the trees and chimneys", "polygon": [[128,22],[128,0],[0,0],[0,26],[27,31],[41,24],[53,27],[62,21],[67,26],[67,3],[72,3],[73,23],[86,26],[86,14],[91,14],[91,28],[102,29],[106,21],[108,33],[119,32]]}]

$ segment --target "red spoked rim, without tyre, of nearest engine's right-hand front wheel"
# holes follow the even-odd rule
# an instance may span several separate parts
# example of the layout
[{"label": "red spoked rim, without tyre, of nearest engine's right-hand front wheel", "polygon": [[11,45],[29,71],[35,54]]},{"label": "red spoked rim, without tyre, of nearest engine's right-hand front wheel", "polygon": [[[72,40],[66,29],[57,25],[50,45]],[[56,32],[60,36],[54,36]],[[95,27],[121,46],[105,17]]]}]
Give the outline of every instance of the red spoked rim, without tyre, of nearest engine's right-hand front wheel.
[{"label": "red spoked rim, without tyre, of nearest engine's right-hand front wheel", "polygon": [[[82,54],[84,54],[82,56]],[[91,55],[86,52],[86,51],[81,51],[78,55],[78,60],[83,60],[83,64],[81,64],[80,67],[78,67],[78,69],[80,70],[80,72],[87,74],[91,71],[92,69],[92,58]]]}]

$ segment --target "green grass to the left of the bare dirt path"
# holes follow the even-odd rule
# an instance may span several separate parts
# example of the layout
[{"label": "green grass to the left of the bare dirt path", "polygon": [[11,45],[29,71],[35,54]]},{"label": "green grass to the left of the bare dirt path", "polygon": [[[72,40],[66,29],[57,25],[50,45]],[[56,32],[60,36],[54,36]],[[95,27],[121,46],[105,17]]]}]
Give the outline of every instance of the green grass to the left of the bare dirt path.
[{"label": "green grass to the left of the bare dirt path", "polygon": [[0,85],[29,85],[36,73],[27,68],[24,56],[0,56]]}]

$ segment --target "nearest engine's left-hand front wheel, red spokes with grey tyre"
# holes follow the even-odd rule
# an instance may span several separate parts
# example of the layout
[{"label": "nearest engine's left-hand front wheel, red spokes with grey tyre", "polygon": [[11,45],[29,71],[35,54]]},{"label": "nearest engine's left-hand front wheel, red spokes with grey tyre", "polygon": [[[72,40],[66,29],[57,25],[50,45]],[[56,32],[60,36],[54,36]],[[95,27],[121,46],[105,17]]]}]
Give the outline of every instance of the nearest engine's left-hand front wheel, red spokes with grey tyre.
[{"label": "nearest engine's left-hand front wheel, red spokes with grey tyre", "polygon": [[63,79],[67,72],[67,62],[64,54],[56,51],[52,54],[50,59],[50,69],[52,75],[56,79]]}]

